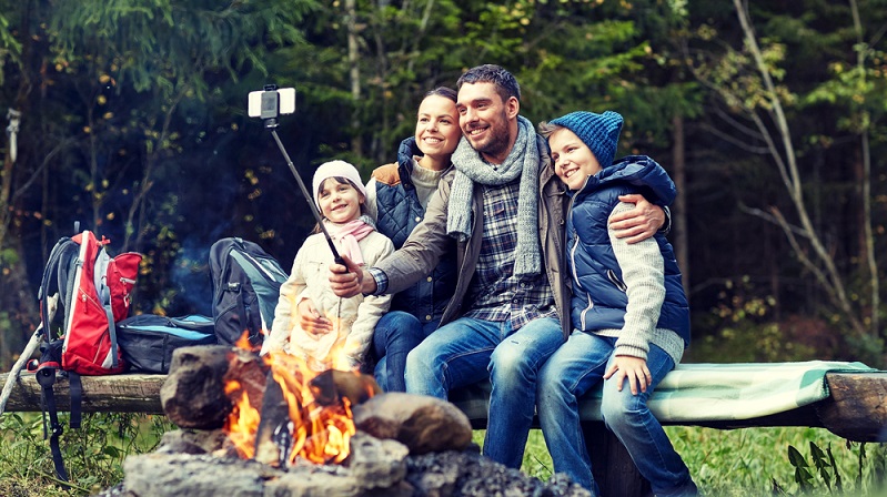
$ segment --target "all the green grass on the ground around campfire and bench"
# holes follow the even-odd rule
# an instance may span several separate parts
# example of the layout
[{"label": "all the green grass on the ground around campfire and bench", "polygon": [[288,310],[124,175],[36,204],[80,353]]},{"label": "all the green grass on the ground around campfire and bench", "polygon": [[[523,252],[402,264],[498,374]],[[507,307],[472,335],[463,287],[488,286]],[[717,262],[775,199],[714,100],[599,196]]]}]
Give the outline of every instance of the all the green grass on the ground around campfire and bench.
[{"label": "all the green grass on the ground around campfire and bench", "polygon": [[[98,493],[122,479],[121,465],[128,454],[153,450],[163,430],[172,428],[162,416],[147,415],[90,415],[83,429],[65,427],[61,445],[75,485],[65,491],[54,485],[40,415],[4,414],[0,417],[0,495],[57,497]],[[774,493],[774,480],[783,495],[802,495],[788,447],[797,448],[813,466],[810,444],[824,452],[831,449],[844,491],[829,493],[812,468],[815,475],[804,495],[887,496],[885,444],[866,444],[863,449],[860,444],[848,444],[819,428],[718,430],[669,426],[666,432],[705,496],[778,495]],[[474,440],[483,445],[483,430],[476,430]],[[860,465],[861,450],[865,457]],[[552,459],[537,429],[530,434],[522,470],[542,480],[552,476]],[[831,486],[835,487],[834,476]]]}]

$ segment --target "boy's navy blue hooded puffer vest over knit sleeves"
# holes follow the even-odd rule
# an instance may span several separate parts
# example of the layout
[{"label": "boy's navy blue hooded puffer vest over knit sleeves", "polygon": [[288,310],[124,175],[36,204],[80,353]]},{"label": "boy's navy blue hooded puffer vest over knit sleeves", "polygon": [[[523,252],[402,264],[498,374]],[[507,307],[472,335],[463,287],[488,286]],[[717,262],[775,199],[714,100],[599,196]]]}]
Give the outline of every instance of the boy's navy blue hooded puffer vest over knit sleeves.
[{"label": "boy's navy blue hooded puffer vest over knit sleeves", "polygon": [[[583,331],[621,329],[625,323],[628,296],[622,270],[613,253],[607,217],[619,203],[618,196],[642,193],[657,205],[675,197],[675,186],[665,170],[651,158],[629,155],[588,178],[573,194],[567,215],[567,260],[573,281],[571,318]],[[681,270],[672,244],[657,233],[665,268],[665,302],[657,327],[672,329],[689,345],[689,306],[681,283]]]}]

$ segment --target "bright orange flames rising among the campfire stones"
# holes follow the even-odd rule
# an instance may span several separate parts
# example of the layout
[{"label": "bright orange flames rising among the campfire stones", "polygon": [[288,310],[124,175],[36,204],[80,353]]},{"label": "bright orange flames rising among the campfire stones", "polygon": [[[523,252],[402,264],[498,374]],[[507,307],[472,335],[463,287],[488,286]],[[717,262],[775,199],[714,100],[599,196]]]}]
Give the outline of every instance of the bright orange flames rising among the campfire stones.
[{"label": "bright orange flames rising among the campfire stones", "polygon": [[[254,351],[245,335],[236,345]],[[333,366],[349,364],[343,348],[337,346],[331,352]],[[305,359],[283,352],[272,352],[263,358],[271,368],[272,377],[281,386],[289,409],[292,445],[288,464],[295,465],[300,458],[315,464],[345,460],[350,454],[351,437],[356,432],[349,399],[342,398],[341,404],[322,406],[315,403],[310,387],[311,381],[320,373],[312,371]],[[241,392],[239,396],[238,390]],[[233,399],[234,408],[225,422],[224,430],[240,457],[253,458],[261,413],[250,405],[239,382],[229,381],[225,394]]]}]

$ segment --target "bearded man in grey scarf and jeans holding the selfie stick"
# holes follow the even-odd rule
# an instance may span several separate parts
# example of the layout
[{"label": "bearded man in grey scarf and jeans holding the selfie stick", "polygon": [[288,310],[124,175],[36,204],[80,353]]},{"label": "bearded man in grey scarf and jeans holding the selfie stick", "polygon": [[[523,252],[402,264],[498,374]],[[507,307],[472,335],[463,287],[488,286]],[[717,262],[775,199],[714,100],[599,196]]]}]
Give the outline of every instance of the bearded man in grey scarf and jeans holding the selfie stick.
[{"label": "bearded man in grey scarf and jeans holding the selfie stick", "polygon": [[[452,388],[490,378],[484,455],[520,468],[536,373],[571,331],[562,276],[567,197],[545,140],[520,115],[514,77],[480,65],[457,87],[463,138],[455,171],[442,179],[424,221],[375,267],[332,266],[330,283],[340,296],[399,292],[426,276],[455,237],[455,294],[441,327],[407,356],[406,390],[446,398]],[[614,226],[627,240],[646,239],[664,223],[662,209],[639,195],[626,201],[637,207]]]}]

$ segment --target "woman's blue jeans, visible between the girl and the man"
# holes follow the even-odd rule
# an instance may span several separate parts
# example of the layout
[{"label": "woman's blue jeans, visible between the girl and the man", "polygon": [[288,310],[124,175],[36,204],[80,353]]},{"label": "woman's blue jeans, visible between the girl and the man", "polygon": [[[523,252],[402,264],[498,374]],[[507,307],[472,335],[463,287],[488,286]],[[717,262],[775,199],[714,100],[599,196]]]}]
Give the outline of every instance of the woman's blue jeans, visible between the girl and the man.
[{"label": "woman's blue jeans, visible between the girl and the man", "polygon": [[422,324],[419,318],[403,311],[391,311],[379,320],[373,332],[373,353],[379,362],[375,365],[375,381],[385,392],[406,392],[404,369],[406,354],[433,331],[441,320]]}]

